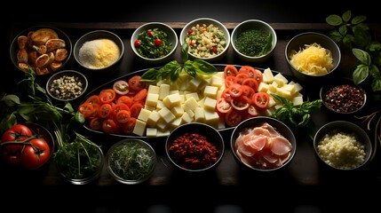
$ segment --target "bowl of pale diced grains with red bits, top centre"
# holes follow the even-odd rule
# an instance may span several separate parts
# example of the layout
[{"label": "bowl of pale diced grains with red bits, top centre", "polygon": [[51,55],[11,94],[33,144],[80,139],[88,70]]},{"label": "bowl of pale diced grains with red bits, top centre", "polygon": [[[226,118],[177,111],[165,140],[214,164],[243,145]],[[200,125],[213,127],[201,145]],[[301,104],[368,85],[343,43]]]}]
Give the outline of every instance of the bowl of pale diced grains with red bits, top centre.
[{"label": "bowl of pale diced grains with red bits, top centre", "polygon": [[[210,25],[213,25],[213,28],[210,28]],[[198,30],[197,26],[199,26]],[[203,29],[200,29],[201,27]],[[204,28],[208,28],[208,30],[205,31]],[[199,34],[200,31],[205,31],[205,33]],[[219,38],[219,40],[211,40],[210,37],[212,36]],[[187,38],[190,40],[189,42]],[[202,39],[210,44],[206,45],[205,42],[200,43],[199,41]],[[188,45],[189,59],[215,61],[223,59],[226,56],[230,45],[230,34],[226,26],[218,20],[200,18],[187,23],[181,30],[179,42],[181,47],[184,43],[193,43]]]}]

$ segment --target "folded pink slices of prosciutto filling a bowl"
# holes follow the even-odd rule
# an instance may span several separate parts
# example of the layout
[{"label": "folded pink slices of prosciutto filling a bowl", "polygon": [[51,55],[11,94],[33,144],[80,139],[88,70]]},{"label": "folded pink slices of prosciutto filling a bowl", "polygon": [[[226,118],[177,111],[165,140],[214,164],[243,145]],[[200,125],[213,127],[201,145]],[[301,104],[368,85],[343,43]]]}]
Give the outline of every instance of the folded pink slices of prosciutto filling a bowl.
[{"label": "folded pink slices of prosciutto filling a bowl", "polygon": [[235,153],[242,162],[258,169],[274,169],[290,159],[293,147],[269,123],[246,128],[235,140]]}]

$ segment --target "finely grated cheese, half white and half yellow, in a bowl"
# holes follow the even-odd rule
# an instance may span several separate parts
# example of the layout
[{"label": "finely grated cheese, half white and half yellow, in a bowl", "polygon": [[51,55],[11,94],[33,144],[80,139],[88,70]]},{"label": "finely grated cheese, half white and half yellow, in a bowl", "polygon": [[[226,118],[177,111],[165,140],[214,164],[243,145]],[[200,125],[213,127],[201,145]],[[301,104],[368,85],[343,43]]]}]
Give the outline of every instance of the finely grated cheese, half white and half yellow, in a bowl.
[{"label": "finely grated cheese, half white and half yellow, in a bowl", "polygon": [[119,47],[107,38],[83,43],[78,59],[84,67],[99,69],[113,64],[120,56]]}]

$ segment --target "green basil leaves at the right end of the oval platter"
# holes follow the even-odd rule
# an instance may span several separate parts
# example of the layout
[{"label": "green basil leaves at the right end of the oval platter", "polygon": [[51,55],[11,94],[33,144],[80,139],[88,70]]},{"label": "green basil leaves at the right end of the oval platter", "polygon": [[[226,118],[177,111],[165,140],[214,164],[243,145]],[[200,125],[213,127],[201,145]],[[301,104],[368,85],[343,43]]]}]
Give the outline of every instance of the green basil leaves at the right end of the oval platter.
[{"label": "green basil leaves at the right end of the oval platter", "polygon": [[274,93],[272,93],[271,96],[280,101],[283,105],[277,108],[272,116],[285,122],[291,128],[306,128],[308,136],[313,139],[316,129],[311,114],[321,109],[321,99],[304,101],[301,105],[295,106],[289,99],[285,99],[282,96]]}]

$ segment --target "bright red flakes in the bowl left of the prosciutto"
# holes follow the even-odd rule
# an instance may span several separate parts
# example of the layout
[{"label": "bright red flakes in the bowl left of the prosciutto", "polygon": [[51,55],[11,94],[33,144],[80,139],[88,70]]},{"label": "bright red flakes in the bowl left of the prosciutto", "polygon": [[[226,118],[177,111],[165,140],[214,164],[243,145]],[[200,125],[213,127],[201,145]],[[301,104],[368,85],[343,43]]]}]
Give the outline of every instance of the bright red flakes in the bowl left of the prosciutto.
[{"label": "bright red flakes in the bowl left of the prosciutto", "polygon": [[176,138],[169,153],[179,166],[188,170],[202,170],[218,161],[218,149],[205,136],[185,133]]}]

